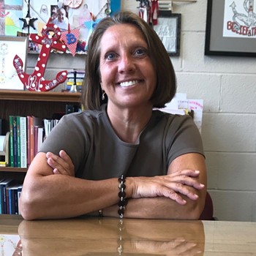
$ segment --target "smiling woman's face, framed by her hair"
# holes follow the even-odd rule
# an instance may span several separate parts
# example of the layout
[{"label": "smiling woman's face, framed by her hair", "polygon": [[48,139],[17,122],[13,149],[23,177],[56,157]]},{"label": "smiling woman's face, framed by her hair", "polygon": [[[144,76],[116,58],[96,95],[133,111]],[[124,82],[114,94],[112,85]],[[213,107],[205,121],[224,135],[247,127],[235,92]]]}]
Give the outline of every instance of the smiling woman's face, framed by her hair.
[{"label": "smiling woman's face, framed by her hair", "polygon": [[108,108],[152,106],[157,75],[143,34],[131,24],[110,26],[100,42],[101,86]]}]

